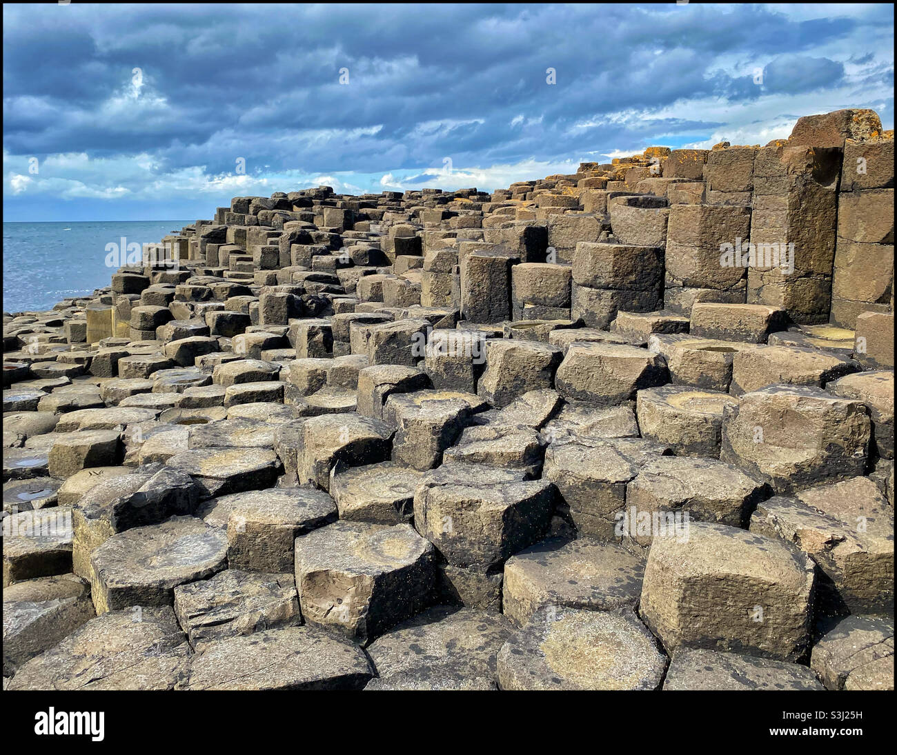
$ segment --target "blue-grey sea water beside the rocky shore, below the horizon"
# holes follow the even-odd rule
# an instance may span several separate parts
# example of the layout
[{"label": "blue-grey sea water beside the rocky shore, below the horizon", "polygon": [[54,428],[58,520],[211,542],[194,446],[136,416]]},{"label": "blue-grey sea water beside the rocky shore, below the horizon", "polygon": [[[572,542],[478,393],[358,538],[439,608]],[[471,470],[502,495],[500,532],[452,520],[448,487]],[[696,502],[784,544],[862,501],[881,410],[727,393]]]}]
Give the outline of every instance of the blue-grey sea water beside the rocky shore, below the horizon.
[{"label": "blue-grey sea water beside the rocky shore, below the horizon", "polygon": [[49,309],[108,286],[119,265],[106,265],[107,244],[155,243],[191,222],[4,222],[4,312]]}]

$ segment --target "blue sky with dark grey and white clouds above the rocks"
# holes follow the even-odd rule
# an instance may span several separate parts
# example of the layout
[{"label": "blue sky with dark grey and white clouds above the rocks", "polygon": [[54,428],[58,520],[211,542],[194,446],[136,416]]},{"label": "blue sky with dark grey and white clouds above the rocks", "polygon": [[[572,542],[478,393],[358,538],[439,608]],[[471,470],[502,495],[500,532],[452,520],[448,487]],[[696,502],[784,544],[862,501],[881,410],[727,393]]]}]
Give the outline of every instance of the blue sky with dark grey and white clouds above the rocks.
[{"label": "blue sky with dark grey and white clouds above the rocks", "polygon": [[650,145],[893,128],[891,4],[4,5],[4,221],[484,191]]}]

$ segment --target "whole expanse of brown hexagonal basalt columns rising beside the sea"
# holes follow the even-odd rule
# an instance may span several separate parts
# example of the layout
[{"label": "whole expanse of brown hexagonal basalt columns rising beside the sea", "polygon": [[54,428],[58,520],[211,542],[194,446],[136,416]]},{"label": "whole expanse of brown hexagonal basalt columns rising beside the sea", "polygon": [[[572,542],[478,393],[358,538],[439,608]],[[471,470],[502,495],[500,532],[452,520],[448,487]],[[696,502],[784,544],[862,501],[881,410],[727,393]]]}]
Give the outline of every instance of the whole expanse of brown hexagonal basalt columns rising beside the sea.
[{"label": "whole expanse of brown hexagonal basalt columns rising beside the sea", "polygon": [[4,313],[4,686],[893,689],[893,176],[239,196]]}]

